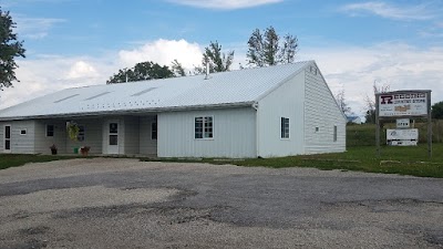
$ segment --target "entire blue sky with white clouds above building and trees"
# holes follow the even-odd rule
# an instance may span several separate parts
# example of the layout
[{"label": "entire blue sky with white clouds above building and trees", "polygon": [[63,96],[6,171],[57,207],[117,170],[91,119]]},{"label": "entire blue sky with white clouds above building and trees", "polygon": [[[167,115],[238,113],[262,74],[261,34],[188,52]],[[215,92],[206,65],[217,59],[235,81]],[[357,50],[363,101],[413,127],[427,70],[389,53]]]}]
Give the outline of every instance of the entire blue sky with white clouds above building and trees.
[{"label": "entire blue sky with white clouds above building and trees", "polygon": [[443,101],[442,0],[0,0],[25,58],[0,110],[68,87],[105,84],[120,69],[153,61],[187,70],[212,41],[248,66],[254,30],[298,38],[296,61],[315,60],[336,95],[364,116],[373,84],[431,90]]}]

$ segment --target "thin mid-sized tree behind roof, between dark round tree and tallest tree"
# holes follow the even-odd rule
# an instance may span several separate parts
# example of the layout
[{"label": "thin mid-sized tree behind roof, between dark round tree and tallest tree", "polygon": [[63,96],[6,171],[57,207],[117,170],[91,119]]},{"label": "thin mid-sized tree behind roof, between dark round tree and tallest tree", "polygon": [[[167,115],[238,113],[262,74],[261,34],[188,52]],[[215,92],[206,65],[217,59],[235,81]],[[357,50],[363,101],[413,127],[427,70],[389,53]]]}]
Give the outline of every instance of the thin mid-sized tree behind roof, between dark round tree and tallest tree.
[{"label": "thin mid-sized tree behind roof, between dark round tree and tallest tree", "polygon": [[[202,64],[205,70],[209,65],[209,72],[225,72],[229,71],[234,60],[234,51],[228,51],[227,54],[222,53],[222,45],[217,41],[210,42],[209,46],[205,48]],[[202,70],[198,70],[202,71]]]}]

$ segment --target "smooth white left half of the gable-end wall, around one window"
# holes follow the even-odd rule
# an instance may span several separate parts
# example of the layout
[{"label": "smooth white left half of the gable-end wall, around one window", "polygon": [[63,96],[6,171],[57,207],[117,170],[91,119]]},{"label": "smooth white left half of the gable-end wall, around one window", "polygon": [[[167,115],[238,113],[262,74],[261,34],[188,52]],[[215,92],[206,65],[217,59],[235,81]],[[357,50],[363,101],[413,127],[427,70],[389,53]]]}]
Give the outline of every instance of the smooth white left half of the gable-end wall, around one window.
[{"label": "smooth white left half of the gable-end wall, around one window", "polygon": [[[297,74],[258,103],[258,149],[261,157],[303,153],[303,73]],[[281,138],[281,117],[289,118],[289,138]]]}]

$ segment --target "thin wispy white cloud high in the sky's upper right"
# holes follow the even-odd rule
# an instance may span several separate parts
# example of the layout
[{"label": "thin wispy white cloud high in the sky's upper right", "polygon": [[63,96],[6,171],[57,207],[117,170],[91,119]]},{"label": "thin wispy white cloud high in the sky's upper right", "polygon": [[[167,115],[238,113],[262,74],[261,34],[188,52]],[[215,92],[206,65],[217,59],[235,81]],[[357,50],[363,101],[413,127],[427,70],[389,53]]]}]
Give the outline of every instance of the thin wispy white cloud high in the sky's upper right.
[{"label": "thin wispy white cloud high in the sky's upper right", "polygon": [[369,1],[361,3],[350,3],[341,8],[351,15],[375,14],[382,18],[396,20],[429,20],[434,18],[432,7],[427,4],[416,6],[393,6],[382,1]]}]

